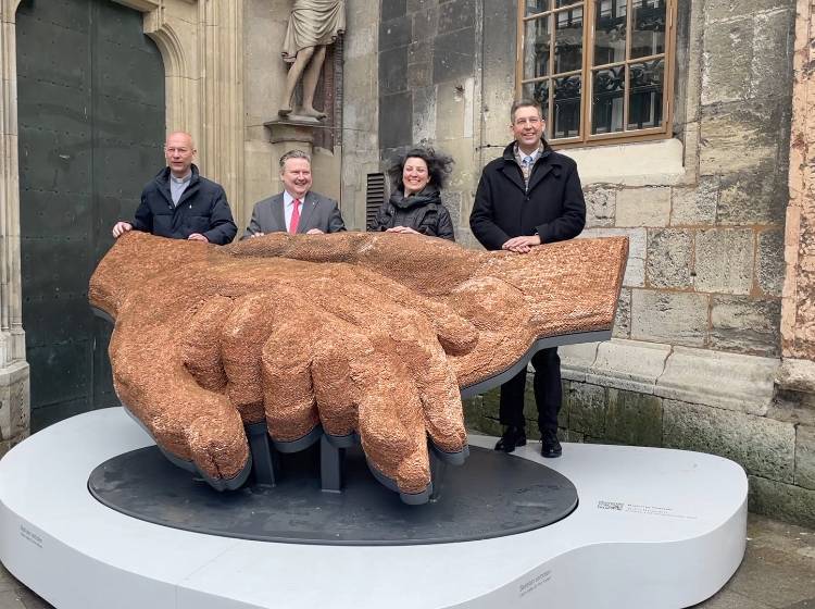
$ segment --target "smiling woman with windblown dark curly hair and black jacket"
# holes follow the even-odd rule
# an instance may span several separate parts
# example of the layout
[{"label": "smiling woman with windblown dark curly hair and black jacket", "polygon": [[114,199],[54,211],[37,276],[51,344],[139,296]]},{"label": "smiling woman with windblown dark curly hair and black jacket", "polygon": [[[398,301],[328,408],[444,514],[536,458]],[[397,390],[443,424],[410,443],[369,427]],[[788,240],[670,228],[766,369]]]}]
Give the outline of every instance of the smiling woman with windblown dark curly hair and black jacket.
[{"label": "smiling woman with windblown dark curly hair and black jacket", "polygon": [[453,160],[432,148],[414,148],[390,167],[393,191],[383,203],[368,231],[412,233],[455,240],[450,212],[441,202],[441,188]]}]

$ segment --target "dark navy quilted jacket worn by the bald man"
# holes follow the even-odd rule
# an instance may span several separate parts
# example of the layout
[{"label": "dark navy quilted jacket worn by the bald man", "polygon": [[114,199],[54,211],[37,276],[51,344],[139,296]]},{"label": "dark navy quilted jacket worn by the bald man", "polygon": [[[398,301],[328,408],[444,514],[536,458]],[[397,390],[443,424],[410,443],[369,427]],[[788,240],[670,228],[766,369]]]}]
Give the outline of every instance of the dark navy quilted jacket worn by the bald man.
[{"label": "dark navy quilted jacket worn by the bald man", "polygon": [[177,206],[170,194],[170,167],[159,172],[141,191],[141,204],[131,224],[137,231],[171,239],[199,233],[220,246],[231,241],[238,232],[224,188],[201,177],[196,165]]}]

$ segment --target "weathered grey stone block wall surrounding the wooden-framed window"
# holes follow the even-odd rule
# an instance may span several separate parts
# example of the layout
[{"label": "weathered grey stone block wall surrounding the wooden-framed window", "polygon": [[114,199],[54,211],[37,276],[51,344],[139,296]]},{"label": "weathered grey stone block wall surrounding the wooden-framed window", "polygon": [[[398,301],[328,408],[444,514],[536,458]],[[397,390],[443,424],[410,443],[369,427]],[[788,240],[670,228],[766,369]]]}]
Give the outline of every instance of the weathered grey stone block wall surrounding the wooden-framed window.
[{"label": "weathered grey stone block wall surrounding the wooden-framed window", "polygon": [[[477,247],[467,219],[478,176],[511,139],[516,2],[380,0],[378,14],[349,4],[347,61],[365,82],[347,87],[346,126],[378,125],[355,165],[384,171],[414,142],[451,153],[446,202],[459,241]],[[630,258],[614,339],[561,351],[566,439],[731,458],[750,476],[752,509],[810,525],[811,9],[678,0],[672,136],[563,150],[582,178],[582,236],[627,235]],[[359,226],[360,196],[346,204]],[[531,430],[531,395],[527,406]],[[500,433],[496,391],[466,412],[471,428]]]}]

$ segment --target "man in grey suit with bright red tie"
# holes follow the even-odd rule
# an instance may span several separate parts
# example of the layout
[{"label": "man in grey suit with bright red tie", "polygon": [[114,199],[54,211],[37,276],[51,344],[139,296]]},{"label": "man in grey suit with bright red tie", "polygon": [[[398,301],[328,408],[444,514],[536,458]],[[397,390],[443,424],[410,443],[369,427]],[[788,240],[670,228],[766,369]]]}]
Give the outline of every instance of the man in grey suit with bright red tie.
[{"label": "man in grey suit with bright red tie", "polygon": [[310,190],[309,154],[289,150],[280,157],[280,179],[284,191],[254,204],[242,238],[275,232],[318,235],[346,229],[337,201]]}]

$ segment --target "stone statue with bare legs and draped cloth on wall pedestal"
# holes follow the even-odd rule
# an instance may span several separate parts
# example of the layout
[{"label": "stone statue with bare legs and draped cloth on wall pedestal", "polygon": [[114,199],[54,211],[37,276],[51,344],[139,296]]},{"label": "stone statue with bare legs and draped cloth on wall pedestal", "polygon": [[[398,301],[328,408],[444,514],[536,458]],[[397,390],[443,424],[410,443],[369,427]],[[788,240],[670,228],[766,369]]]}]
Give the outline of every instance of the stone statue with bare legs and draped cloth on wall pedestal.
[{"label": "stone statue with bare legs and draped cloth on wall pedestal", "polygon": [[[314,108],[314,94],[325,62],[326,47],[346,29],[344,0],[294,0],[283,44],[283,59],[290,63],[286,90],[280,101],[280,116],[296,114],[311,119],[326,117]],[[302,80],[301,108],[293,112],[294,88]]]}]

